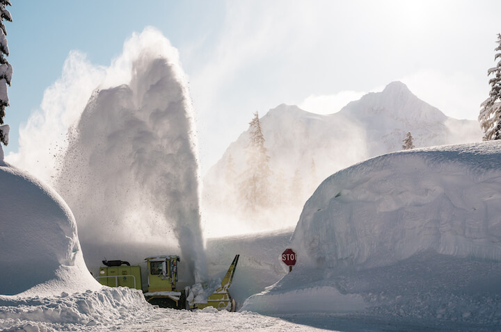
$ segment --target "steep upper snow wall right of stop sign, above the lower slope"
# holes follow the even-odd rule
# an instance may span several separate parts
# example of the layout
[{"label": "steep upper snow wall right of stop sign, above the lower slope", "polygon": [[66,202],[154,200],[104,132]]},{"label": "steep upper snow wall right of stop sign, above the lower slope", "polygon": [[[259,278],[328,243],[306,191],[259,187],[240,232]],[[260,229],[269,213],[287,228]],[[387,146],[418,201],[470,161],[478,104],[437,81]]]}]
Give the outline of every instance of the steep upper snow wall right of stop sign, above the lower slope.
[{"label": "steep upper snow wall right of stop sign, above the lower slope", "polygon": [[427,249],[501,260],[501,144],[415,149],[326,179],[291,246],[315,267],[389,265]]}]

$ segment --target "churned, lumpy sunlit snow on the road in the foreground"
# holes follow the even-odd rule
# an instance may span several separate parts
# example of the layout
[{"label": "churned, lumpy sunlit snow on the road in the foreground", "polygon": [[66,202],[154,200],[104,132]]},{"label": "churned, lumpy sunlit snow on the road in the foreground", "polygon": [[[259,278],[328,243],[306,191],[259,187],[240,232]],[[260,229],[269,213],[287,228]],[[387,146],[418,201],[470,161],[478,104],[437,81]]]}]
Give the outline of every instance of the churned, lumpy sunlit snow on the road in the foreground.
[{"label": "churned, lumpy sunlit snow on the road in the foreground", "polygon": [[104,288],[61,297],[0,298],[0,331],[325,331],[251,312],[174,310],[139,292]]}]

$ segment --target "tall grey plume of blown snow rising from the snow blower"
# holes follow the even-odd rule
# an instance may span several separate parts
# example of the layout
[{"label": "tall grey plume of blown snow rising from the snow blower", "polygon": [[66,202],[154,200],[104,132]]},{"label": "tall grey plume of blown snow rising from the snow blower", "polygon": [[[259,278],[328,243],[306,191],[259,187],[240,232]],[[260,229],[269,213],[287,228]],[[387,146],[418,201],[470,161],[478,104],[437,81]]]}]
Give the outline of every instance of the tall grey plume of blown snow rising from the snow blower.
[{"label": "tall grey plume of blown snow rising from the snow blower", "polygon": [[56,189],[89,267],[180,249],[184,276],[205,279],[193,110],[177,58],[158,31],[134,35],[69,131]]}]

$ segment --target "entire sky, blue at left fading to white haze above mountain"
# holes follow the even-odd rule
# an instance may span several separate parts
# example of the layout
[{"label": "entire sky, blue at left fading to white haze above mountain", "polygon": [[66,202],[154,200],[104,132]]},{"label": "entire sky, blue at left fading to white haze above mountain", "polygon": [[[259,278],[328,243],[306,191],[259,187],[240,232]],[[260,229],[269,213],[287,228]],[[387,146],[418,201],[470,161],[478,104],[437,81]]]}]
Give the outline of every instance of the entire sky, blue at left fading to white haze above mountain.
[{"label": "entire sky, blue at left fading to white haze above mountain", "polygon": [[10,144],[61,77],[70,51],[108,66],[132,33],[158,28],[180,52],[202,170],[280,103],[335,113],[403,81],[456,118],[476,119],[495,65],[501,1],[13,1],[6,22]]}]

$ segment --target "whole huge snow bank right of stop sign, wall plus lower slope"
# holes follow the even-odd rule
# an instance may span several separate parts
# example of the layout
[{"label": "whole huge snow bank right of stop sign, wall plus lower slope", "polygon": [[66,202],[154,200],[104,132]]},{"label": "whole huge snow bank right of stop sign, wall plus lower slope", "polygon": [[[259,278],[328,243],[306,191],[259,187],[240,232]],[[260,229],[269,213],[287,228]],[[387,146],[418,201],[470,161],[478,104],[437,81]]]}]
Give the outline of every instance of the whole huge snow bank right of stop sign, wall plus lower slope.
[{"label": "whole huge snow bank right of stop sign, wall plus lower slope", "polygon": [[390,153],[333,174],[305,204],[292,273],[242,310],[372,317],[414,331],[497,326],[500,161],[501,142],[484,142]]}]

